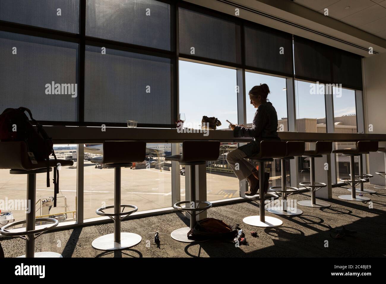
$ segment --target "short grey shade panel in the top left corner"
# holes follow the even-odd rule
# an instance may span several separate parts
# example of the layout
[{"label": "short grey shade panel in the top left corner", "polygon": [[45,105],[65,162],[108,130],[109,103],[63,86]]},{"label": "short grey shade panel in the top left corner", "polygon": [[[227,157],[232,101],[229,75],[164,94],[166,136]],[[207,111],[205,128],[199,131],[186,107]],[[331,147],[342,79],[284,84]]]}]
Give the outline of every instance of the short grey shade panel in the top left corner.
[{"label": "short grey shade panel in the top left corner", "polygon": [[79,0],[1,0],[0,20],[77,34]]}]

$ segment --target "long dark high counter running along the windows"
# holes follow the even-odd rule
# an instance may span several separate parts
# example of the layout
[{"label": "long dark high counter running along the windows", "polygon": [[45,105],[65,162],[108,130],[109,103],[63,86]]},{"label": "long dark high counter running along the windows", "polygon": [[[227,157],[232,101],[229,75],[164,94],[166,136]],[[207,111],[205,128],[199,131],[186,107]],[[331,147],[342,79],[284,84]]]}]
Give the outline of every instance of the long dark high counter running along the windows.
[{"label": "long dark high counter running along the windows", "polygon": [[[251,138],[235,138],[231,130],[209,130],[207,133],[178,133],[177,129],[123,128],[87,126],[44,126],[56,144],[103,143],[108,140],[141,140],[148,143],[181,143],[184,140],[217,140],[221,142],[249,142]],[[386,141],[386,134],[357,133],[305,133],[279,132],[284,141],[335,141],[358,140]]]}]

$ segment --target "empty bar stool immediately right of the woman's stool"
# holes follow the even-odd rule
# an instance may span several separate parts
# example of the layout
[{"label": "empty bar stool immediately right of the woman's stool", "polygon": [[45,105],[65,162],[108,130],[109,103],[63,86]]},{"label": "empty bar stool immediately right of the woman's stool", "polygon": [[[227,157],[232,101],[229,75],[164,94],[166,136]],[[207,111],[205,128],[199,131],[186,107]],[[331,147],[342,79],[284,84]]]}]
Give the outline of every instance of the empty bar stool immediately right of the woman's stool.
[{"label": "empty bar stool immediately right of the woman's stool", "polygon": [[284,216],[297,216],[303,214],[303,211],[297,208],[287,206],[287,197],[291,194],[296,194],[300,189],[297,187],[287,186],[287,174],[286,174],[286,162],[287,160],[295,159],[295,156],[301,156],[304,154],[305,143],[304,141],[288,141],[286,143],[286,155],[281,160],[281,186],[272,186],[271,191],[281,196],[283,201],[283,207],[281,209],[275,209],[267,207],[267,211],[276,215]]}]

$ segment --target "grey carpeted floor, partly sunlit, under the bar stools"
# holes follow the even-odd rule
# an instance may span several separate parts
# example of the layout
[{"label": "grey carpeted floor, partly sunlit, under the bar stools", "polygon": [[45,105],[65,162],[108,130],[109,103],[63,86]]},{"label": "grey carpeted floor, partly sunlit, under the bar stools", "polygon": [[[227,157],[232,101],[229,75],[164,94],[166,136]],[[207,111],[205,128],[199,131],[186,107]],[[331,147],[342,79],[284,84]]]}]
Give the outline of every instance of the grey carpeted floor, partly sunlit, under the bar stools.
[{"label": "grey carpeted floor, partly sunlit, under the bar stools", "polygon": [[[372,188],[372,185],[365,185]],[[181,213],[169,213],[122,222],[123,232],[137,233],[142,242],[127,250],[102,252],[91,247],[98,236],[113,233],[113,224],[85,226],[71,230],[54,231],[36,240],[36,252],[58,252],[63,257],[384,257],[386,235],[386,190],[377,194],[365,194],[372,204],[349,202],[338,199],[341,194],[350,194],[348,187],[333,188],[333,199],[328,200],[331,207],[325,209],[298,205],[303,215],[283,218],[279,228],[262,229],[246,225],[242,219],[257,215],[259,208],[254,202],[239,202],[217,206],[208,210],[208,217],[223,220],[225,223],[239,223],[245,232],[248,245],[235,247],[232,243],[207,241],[187,244],[174,241],[171,231],[188,224]],[[310,194],[291,196],[293,199],[309,199]],[[369,208],[372,205],[372,208]],[[370,206],[371,207],[371,206]],[[273,216],[266,213],[267,216]],[[185,222],[185,223],[184,223]],[[355,236],[333,239],[328,225],[356,230]],[[161,248],[154,244],[153,234],[161,233]],[[257,231],[252,237],[250,232]],[[7,238],[1,241],[5,257],[24,254],[24,240]],[[150,246],[149,246],[150,244]]]}]

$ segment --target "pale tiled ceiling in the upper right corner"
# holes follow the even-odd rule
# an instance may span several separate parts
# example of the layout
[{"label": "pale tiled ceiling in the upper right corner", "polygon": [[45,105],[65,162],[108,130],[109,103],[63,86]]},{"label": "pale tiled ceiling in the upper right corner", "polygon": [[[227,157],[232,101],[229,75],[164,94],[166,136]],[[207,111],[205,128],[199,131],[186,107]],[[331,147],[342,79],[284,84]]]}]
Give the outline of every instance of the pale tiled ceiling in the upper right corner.
[{"label": "pale tiled ceiling in the upper right corner", "polygon": [[[386,39],[386,0],[293,0],[293,2]],[[349,7],[345,9],[346,7]]]}]

